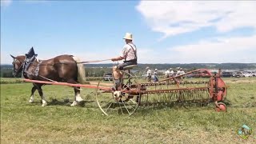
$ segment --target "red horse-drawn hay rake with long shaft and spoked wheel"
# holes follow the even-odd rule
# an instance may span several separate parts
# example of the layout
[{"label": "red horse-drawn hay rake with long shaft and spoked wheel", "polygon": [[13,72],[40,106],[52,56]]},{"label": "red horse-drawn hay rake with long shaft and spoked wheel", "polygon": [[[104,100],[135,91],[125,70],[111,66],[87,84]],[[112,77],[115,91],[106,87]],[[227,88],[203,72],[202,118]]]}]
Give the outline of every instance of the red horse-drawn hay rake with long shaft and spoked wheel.
[{"label": "red horse-drawn hay rake with long shaft and spoked wheel", "polygon": [[[103,114],[134,114],[140,108],[152,106],[169,106],[174,103],[200,104],[204,106],[214,102],[215,110],[226,111],[223,102],[227,94],[227,86],[220,77],[220,71],[211,74],[209,70],[198,69],[163,79],[159,82],[143,82],[144,80],[123,71],[122,90],[113,90],[113,83],[98,82],[97,85],[70,84],[66,82],[45,82],[25,79],[25,82],[44,83],[61,86],[79,86],[96,90],[96,101]],[[185,77],[201,75],[208,80],[187,81]],[[197,79],[197,78],[194,78]]]}]

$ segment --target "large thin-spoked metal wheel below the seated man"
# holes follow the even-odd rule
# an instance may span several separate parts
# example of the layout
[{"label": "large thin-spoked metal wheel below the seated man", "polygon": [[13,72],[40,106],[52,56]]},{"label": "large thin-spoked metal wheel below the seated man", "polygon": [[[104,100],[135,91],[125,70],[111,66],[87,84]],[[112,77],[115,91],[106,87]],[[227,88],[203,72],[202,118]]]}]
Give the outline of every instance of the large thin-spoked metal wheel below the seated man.
[{"label": "large thin-spoked metal wheel below the seated man", "polygon": [[[131,80],[132,77],[130,77]],[[122,114],[132,115],[138,109],[140,94],[130,94],[130,90],[136,89],[136,82],[124,82],[121,90],[102,90],[101,82],[96,89],[96,101],[100,110],[105,115]]]}]

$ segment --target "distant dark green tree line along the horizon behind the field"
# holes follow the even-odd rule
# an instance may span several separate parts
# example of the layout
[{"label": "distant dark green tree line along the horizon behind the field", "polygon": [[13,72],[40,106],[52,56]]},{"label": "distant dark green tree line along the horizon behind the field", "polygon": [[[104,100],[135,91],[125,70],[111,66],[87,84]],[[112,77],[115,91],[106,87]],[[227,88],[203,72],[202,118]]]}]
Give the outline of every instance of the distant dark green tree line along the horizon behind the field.
[{"label": "distant dark green tree line along the horizon behind the field", "polygon": [[[86,77],[102,77],[105,73],[111,73],[113,63],[109,64],[86,64]],[[189,63],[189,64],[138,64],[134,70],[143,71],[149,66],[151,70],[167,70],[170,68],[182,67],[186,70],[196,69],[222,69],[222,70],[256,70],[256,63]],[[13,78],[13,66],[12,65],[1,65],[1,77],[2,78]],[[21,77],[21,74],[18,75]]]}]

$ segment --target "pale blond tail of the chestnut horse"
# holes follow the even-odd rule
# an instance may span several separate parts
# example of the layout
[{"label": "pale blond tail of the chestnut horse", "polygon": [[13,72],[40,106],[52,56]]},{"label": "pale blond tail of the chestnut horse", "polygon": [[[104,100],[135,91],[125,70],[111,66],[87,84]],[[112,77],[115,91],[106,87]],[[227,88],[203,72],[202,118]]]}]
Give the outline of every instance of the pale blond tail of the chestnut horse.
[{"label": "pale blond tail of the chestnut horse", "polygon": [[74,57],[73,59],[75,62],[77,62],[77,67],[78,67],[78,82],[81,84],[86,83],[86,71],[85,67],[81,63],[80,59],[78,57]]}]

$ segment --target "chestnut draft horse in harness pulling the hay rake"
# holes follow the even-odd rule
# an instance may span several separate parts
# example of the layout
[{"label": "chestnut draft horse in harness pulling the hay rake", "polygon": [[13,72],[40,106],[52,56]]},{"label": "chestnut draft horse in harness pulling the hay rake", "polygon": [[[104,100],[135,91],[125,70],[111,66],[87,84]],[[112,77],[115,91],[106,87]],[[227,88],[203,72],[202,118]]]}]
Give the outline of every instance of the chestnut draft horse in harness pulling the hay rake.
[{"label": "chestnut draft horse in harness pulling the hay rake", "polygon": [[[19,55],[14,57],[14,77],[20,72],[24,78],[32,80],[42,81],[55,81],[55,82],[68,82],[68,83],[83,83],[85,82],[85,69],[78,58],[72,55],[59,55],[55,58],[48,60],[38,61],[34,58],[30,62],[26,61],[25,55]],[[29,64],[27,64],[29,63]],[[25,70],[26,69],[26,70]],[[42,93],[42,83],[33,83],[31,89],[30,101],[34,102],[34,91],[38,90],[40,97],[42,98],[42,106],[46,106],[46,98]],[[80,87],[74,87],[74,102],[70,106],[76,106],[78,102],[83,101],[80,96]]]}]

